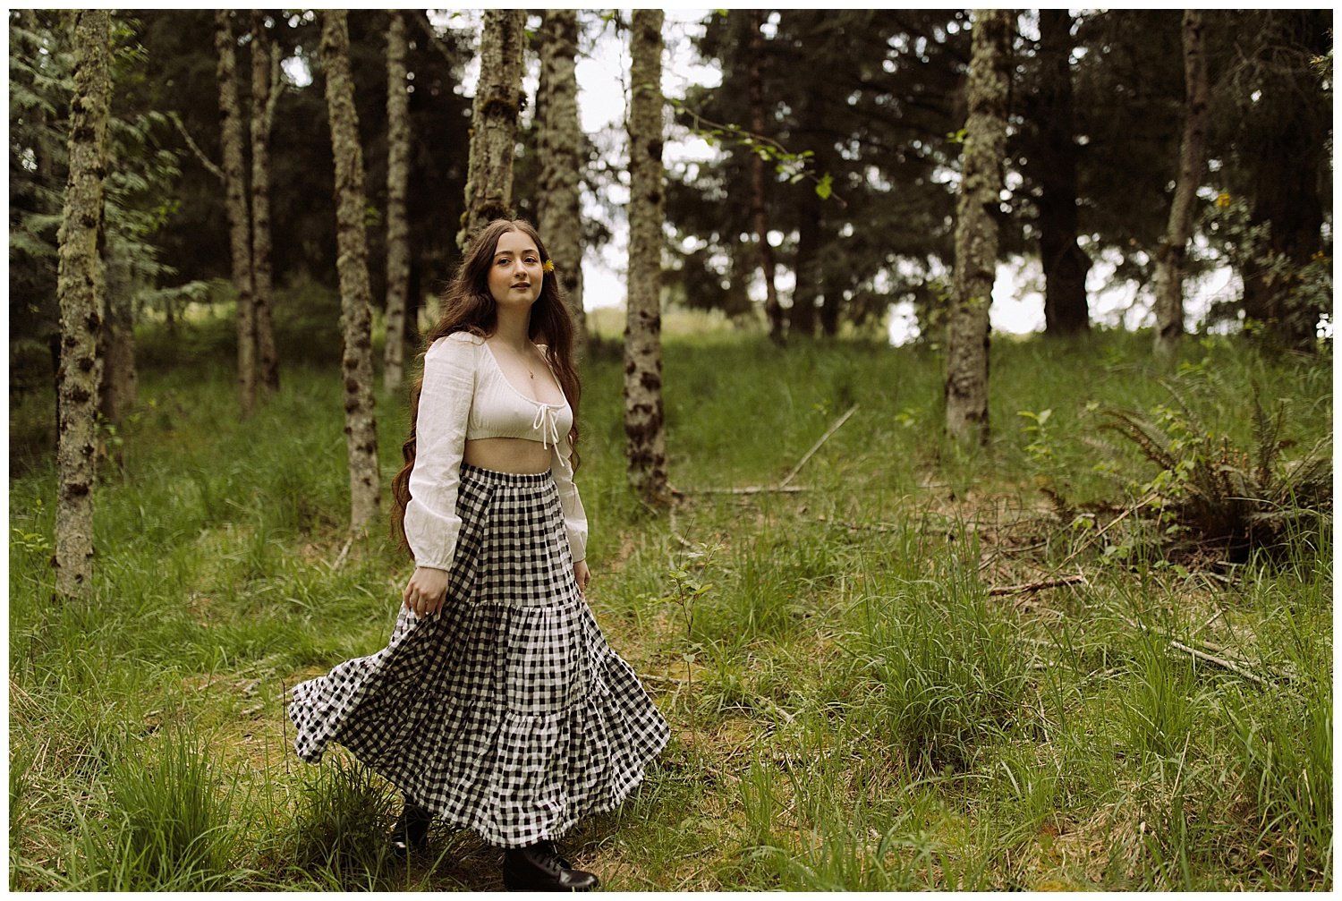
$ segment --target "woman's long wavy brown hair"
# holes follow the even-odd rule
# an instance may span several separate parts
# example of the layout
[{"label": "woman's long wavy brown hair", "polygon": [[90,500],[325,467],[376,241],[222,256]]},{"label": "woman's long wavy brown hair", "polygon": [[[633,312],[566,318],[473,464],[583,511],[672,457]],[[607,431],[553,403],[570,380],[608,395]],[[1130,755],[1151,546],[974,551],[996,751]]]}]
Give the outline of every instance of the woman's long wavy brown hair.
[{"label": "woman's long wavy brown hair", "polygon": [[[541,252],[542,260],[549,260],[550,255],[541,242],[541,235],[535,227],[525,219],[495,219],[476,232],[471,240],[466,259],[462,260],[456,278],[442,295],[443,316],[429,329],[424,337],[424,353],[442,337],[452,332],[468,332],[480,337],[494,334],[498,328],[498,312],[494,295],[490,293],[490,267],[494,265],[494,251],[498,248],[499,238],[506,232],[519,231],[535,242],[535,248]],[[578,266],[581,260],[569,260],[569,266]],[[554,377],[564,391],[564,397],[573,408],[573,428],[569,430],[569,442],[573,447],[573,469],[578,467],[578,397],[582,387],[578,383],[577,368],[573,365],[573,320],[569,317],[569,307],[560,289],[560,281],[554,273],[544,273],[541,278],[541,295],[531,305],[531,318],[526,329],[527,338],[538,342],[542,338],[545,359],[554,371]],[[424,389],[423,363],[420,377],[415,380],[411,391],[411,434],[401,444],[401,457],[405,465],[392,479],[392,534],[400,538],[401,547],[409,549],[405,540],[405,506],[411,501],[411,470],[415,469],[415,423],[419,419],[420,392]]]}]

